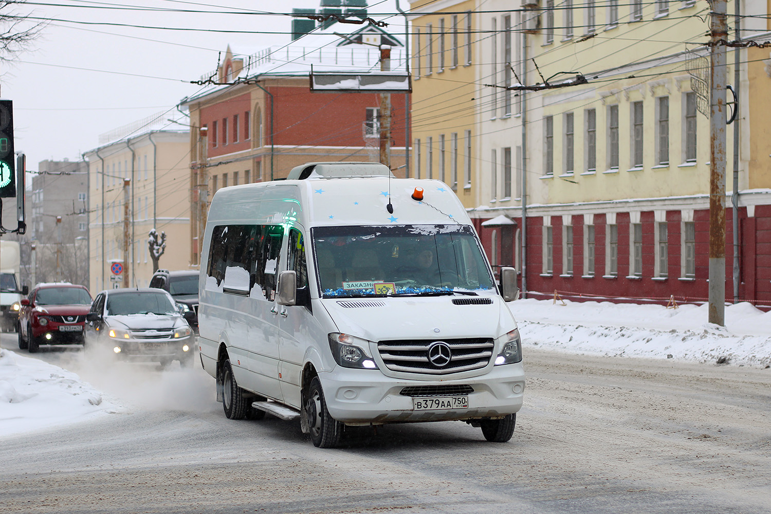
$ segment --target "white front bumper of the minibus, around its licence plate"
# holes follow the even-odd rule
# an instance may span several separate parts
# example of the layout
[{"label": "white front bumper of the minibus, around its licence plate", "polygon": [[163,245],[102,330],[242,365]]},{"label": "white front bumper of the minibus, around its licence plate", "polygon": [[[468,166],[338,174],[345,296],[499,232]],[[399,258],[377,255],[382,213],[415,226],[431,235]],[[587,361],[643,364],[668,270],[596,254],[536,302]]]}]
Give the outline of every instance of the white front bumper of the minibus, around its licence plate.
[{"label": "white front bumper of the minibus, around its licence plate", "polygon": [[[340,366],[319,373],[318,378],[332,418],[352,424],[451,421],[513,414],[522,407],[525,387],[521,363],[493,366],[486,375],[444,381],[389,378],[379,370]],[[402,388],[408,386],[431,385],[470,385],[473,392],[468,394],[468,408],[415,411],[412,409],[413,397],[400,394]]]}]

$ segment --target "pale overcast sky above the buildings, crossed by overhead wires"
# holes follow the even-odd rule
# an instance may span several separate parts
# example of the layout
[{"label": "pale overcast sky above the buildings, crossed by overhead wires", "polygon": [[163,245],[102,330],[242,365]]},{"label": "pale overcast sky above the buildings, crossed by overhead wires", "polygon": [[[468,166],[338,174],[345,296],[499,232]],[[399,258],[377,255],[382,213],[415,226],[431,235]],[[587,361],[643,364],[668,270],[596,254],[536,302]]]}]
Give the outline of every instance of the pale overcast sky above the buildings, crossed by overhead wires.
[{"label": "pale overcast sky above the buildings, crossed by overhead wires", "polygon": [[[224,34],[50,22],[14,62],[0,64],[0,93],[14,101],[15,149],[27,155],[29,170],[41,160],[78,160],[99,146],[99,134],[173,108],[201,86],[197,80],[217,65],[217,53],[231,45],[251,53],[289,42],[291,18],[268,15],[217,15],[143,12],[100,7],[254,9],[291,12],[318,8],[319,0],[30,0],[62,5],[22,5],[17,12],[42,18],[198,29],[287,32],[287,35]],[[396,1],[369,0],[369,11],[396,12]],[[408,8],[406,0],[402,8]],[[96,8],[95,8],[96,7]],[[403,17],[387,20],[389,32],[403,33]],[[91,71],[93,70],[93,71]],[[167,116],[185,123],[172,109]],[[182,128],[170,123],[169,128]]]}]

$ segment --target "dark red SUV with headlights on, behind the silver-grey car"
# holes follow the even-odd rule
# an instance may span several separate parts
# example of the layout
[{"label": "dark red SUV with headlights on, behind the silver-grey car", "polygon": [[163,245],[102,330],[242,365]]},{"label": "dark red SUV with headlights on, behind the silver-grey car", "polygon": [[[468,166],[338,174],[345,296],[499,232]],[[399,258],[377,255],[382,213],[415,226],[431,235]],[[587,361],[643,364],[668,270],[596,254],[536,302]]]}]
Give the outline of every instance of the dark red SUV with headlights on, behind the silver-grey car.
[{"label": "dark red SUV with headlights on, behind the silver-grey car", "polygon": [[38,284],[22,299],[19,311],[19,348],[38,351],[41,344],[83,344],[83,325],[91,308],[86,287],[76,284]]}]

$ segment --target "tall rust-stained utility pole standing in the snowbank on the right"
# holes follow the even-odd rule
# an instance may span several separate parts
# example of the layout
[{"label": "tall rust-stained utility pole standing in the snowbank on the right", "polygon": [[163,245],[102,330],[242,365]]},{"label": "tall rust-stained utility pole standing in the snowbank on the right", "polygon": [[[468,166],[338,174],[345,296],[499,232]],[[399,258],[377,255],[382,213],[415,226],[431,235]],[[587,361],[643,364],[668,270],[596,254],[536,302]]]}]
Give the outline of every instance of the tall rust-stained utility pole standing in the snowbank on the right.
[{"label": "tall rust-stained utility pole standing in the snowbank on the right", "polygon": [[709,116],[709,323],[726,326],[726,0],[712,0]]}]

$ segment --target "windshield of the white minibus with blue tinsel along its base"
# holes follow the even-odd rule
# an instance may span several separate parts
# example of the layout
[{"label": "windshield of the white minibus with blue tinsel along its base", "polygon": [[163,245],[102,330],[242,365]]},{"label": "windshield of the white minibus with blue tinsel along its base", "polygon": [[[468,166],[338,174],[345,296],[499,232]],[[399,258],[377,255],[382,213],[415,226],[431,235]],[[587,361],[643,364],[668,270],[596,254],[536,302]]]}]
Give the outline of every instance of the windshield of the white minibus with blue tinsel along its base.
[{"label": "windshield of the white minibus with blue tinsel along its base", "polygon": [[470,226],[315,227],[311,237],[325,298],[496,289]]}]

